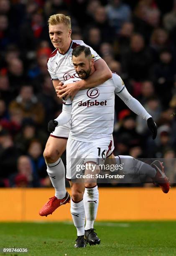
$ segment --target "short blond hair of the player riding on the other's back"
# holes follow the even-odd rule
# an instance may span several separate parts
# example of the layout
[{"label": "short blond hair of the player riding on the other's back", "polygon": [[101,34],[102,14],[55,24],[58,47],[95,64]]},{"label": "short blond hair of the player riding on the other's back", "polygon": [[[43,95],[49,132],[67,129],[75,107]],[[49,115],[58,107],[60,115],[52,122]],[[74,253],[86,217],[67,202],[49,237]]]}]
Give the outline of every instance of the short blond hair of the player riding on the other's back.
[{"label": "short blond hair of the player riding on the other's back", "polygon": [[48,18],[48,25],[57,25],[59,23],[64,23],[69,29],[71,29],[71,20],[70,16],[66,16],[62,13],[57,13],[54,15],[51,15]]}]

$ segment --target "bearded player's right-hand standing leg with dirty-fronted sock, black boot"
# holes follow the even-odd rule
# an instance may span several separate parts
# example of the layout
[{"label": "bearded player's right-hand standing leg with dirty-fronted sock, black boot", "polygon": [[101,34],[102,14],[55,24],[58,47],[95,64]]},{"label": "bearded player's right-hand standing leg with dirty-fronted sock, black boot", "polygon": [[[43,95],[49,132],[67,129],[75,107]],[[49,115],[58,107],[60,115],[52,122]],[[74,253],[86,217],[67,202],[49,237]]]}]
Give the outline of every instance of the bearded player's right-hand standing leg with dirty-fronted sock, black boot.
[{"label": "bearded player's right-hand standing leg with dirty-fronted sock, black boot", "polygon": [[[99,173],[99,170],[96,170],[93,173]],[[91,165],[89,165],[89,167],[86,167],[85,175],[86,174],[92,174]],[[92,177],[85,179],[84,184],[85,191],[83,201],[86,214],[85,238],[91,246],[100,243],[100,239],[98,238],[97,233],[94,232],[94,221],[97,217],[99,192],[97,187],[97,179]]]}]

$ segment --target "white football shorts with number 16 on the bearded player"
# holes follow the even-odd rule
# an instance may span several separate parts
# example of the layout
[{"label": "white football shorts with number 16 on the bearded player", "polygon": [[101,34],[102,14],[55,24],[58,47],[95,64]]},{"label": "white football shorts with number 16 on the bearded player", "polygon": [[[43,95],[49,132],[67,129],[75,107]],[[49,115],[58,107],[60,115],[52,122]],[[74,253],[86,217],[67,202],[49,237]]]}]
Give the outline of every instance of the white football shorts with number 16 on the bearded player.
[{"label": "white football shorts with number 16 on the bearded player", "polygon": [[110,156],[113,149],[114,144],[112,148],[111,138],[84,142],[69,137],[66,144],[66,178],[69,180],[77,179],[77,174],[83,172],[82,167],[86,162],[92,161],[96,164],[104,164],[107,154]]}]

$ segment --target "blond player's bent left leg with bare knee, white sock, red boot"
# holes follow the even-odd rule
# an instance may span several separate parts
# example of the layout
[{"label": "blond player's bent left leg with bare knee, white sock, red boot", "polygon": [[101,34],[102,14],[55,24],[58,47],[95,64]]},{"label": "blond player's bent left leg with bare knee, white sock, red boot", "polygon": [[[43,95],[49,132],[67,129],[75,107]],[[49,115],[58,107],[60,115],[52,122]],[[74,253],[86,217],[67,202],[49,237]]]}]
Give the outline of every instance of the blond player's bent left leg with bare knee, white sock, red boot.
[{"label": "blond player's bent left leg with bare knee, white sock, red boot", "polygon": [[70,201],[70,195],[65,188],[65,167],[60,158],[66,149],[66,139],[49,137],[43,156],[47,165],[47,172],[55,188],[55,195],[41,208],[39,215],[52,214],[60,205]]}]

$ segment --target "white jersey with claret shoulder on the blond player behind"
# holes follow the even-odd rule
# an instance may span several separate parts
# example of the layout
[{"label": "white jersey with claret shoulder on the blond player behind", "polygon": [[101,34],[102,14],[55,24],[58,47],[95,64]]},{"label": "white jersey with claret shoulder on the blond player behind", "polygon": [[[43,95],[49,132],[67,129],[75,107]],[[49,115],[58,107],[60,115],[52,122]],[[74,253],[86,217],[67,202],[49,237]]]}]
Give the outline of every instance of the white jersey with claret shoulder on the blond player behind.
[{"label": "white jersey with claret shoulder on the blond player behind", "polygon": [[[88,45],[84,44],[82,40],[72,40],[70,47],[65,54],[61,54],[59,52],[59,49],[55,49],[52,52],[47,61],[48,72],[52,80],[59,79],[61,82],[64,83],[66,80],[70,79],[73,76],[73,74],[75,74],[72,62],[72,51],[75,47],[79,45],[89,47]],[[94,61],[101,59],[101,57],[96,53],[96,51],[94,51],[91,47],[89,48],[92,53]]]}]

